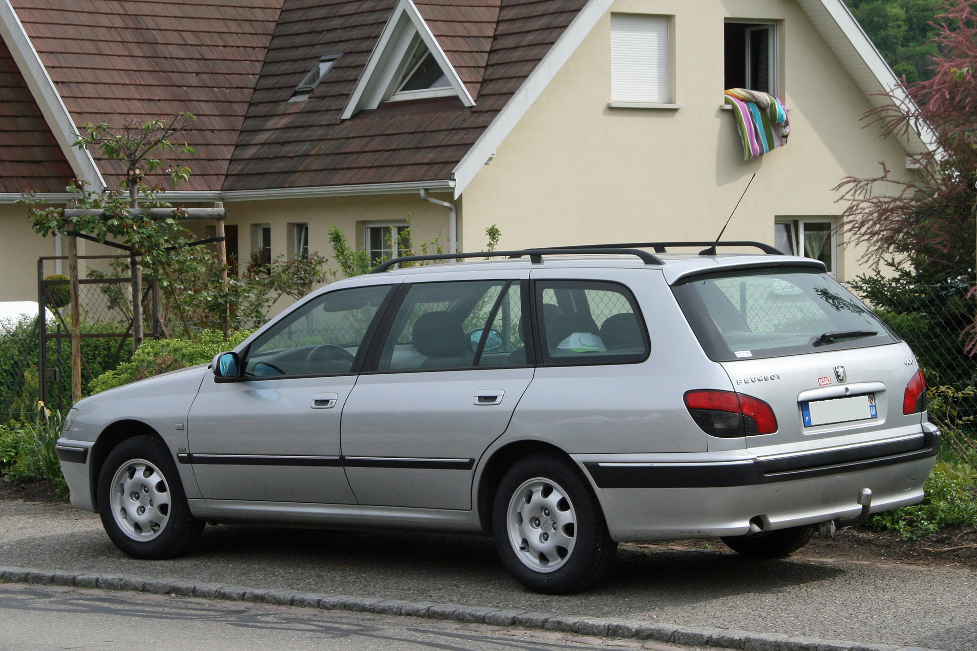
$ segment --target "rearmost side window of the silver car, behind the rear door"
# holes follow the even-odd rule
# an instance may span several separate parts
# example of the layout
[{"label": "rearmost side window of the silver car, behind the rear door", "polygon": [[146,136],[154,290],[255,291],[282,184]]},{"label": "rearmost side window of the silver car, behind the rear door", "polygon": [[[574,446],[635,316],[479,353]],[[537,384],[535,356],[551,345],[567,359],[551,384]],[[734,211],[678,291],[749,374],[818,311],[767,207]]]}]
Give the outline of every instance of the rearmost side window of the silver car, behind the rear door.
[{"label": "rearmost side window of the silver car, behind the rear door", "polygon": [[626,364],[648,358],[648,332],[631,291],[613,282],[537,280],[543,363]]}]

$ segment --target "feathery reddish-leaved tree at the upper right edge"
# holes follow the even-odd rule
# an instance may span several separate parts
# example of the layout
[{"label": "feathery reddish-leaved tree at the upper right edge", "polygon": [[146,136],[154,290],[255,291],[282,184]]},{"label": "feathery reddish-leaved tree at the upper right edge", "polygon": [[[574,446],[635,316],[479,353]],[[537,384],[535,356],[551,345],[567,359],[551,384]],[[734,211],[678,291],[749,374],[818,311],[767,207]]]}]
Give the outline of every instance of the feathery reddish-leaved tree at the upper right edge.
[{"label": "feathery reddish-leaved tree at the upper right edge", "polygon": [[[847,177],[835,189],[847,203],[843,229],[866,247],[864,259],[910,266],[927,281],[973,280],[977,224],[977,10],[952,0],[934,27],[940,55],[932,58],[933,77],[889,94],[895,105],[871,109],[870,123],[883,137],[912,131],[931,134],[935,151],[919,157],[916,181],[881,173],[869,179]],[[914,103],[902,102],[904,93]]]}]

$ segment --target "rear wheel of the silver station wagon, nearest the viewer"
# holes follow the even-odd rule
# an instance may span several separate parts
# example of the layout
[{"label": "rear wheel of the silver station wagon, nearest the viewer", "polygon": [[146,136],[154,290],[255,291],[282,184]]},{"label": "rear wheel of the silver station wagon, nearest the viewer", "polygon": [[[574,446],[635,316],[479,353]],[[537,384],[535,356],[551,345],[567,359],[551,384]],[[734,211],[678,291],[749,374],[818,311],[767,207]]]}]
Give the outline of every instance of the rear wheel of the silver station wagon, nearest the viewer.
[{"label": "rear wheel of the silver station wagon, nearest the viewer", "polygon": [[509,468],[495,493],[492,531],[506,569],[544,594],[593,586],[617,549],[587,478],[557,453],[534,453]]}]

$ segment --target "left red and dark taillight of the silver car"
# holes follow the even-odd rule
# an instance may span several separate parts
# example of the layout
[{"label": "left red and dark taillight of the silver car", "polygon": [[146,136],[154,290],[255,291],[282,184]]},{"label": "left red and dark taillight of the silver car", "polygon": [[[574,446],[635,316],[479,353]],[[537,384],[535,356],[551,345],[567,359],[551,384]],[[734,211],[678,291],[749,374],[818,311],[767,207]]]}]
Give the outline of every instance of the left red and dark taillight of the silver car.
[{"label": "left red and dark taillight of the silver car", "polygon": [[686,391],[685,406],[702,431],[734,438],[777,431],[774,410],[763,400],[736,391]]}]

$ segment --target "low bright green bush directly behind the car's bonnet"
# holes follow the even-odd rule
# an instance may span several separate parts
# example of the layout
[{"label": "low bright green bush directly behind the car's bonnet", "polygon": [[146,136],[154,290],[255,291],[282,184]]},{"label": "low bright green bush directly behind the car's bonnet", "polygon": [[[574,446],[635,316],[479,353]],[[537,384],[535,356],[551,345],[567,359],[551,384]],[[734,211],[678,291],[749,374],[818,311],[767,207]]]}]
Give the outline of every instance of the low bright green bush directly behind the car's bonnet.
[{"label": "low bright green bush directly behind the car's bonnet", "polygon": [[132,356],[132,360],[119,364],[113,371],[106,371],[88,385],[88,394],[108,388],[121,387],[137,380],[178,369],[204,364],[223,350],[230,350],[247,339],[253,330],[232,334],[228,341],[218,330],[202,330],[196,340],[161,339],[145,342]]}]

